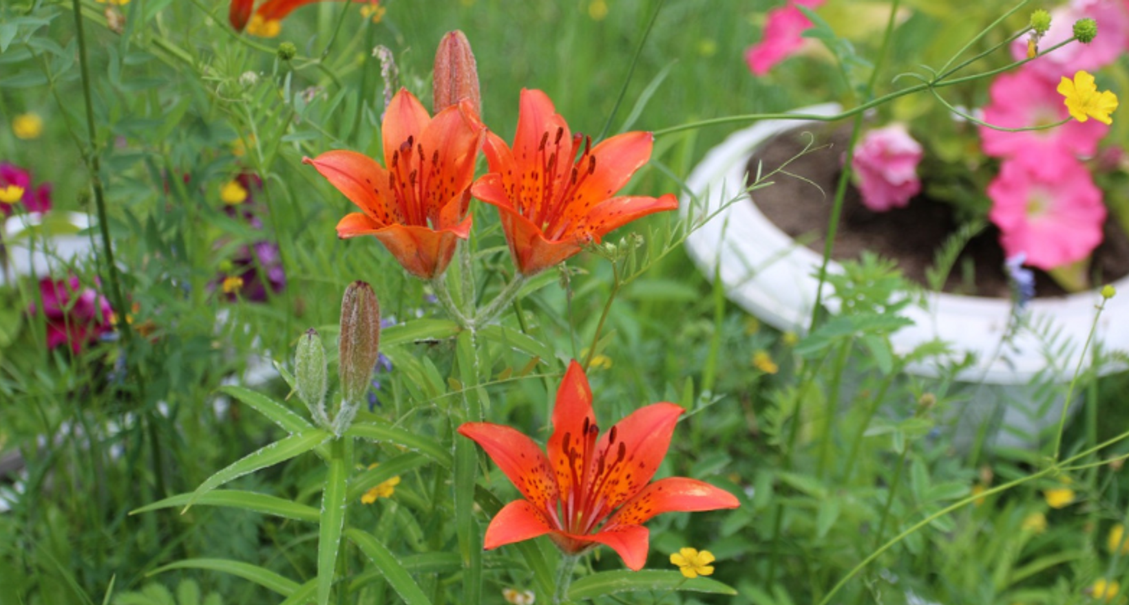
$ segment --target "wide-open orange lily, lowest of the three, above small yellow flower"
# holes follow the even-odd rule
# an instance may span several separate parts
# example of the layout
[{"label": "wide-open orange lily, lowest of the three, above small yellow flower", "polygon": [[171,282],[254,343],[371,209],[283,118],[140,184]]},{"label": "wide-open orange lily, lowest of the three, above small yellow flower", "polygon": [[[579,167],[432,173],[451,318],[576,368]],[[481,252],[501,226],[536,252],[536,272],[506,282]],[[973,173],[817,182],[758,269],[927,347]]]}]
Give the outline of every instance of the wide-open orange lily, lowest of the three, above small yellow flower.
[{"label": "wide-open orange lily, lowest of the three, above small yellow flower", "polygon": [[682,408],[654,403],[598,436],[592,390],[572,362],[553,408],[548,455],[517,430],[466,422],[458,433],[485,450],[525,497],[506,505],[487,527],[485,549],[548,534],[567,554],[604,544],[634,571],[647,561],[645,522],[674,510],[736,508],[737,499],[709,483],[672,477],[650,482],[666,455]]}]

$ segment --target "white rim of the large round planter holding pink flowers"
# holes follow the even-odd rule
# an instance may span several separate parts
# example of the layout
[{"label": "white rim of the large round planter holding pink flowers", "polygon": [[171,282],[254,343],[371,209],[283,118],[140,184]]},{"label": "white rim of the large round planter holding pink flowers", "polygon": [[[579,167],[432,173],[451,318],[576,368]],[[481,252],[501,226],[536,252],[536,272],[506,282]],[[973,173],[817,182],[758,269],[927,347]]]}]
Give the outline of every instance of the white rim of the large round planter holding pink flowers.
[{"label": "white rim of the large round planter holding pink flowers", "polygon": [[[834,115],[839,110],[835,104],[824,104],[796,113]],[[686,239],[691,258],[707,278],[712,279],[715,270],[719,270],[726,294],[733,302],[779,330],[795,332],[806,330],[819,283],[814,272],[819,270],[822,256],[780,231],[750,203],[747,195],[726,203],[745,189],[746,162],[756,145],[774,134],[809,123],[767,121],[732,134],[710,150],[690,174],[686,179],[689,193],[682,196],[680,204],[681,212],[688,216],[717,213]],[[841,272],[842,267],[832,260],[829,270]],[[1104,349],[1129,349],[1129,276],[1112,285],[1122,294],[1106,301],[1095,341]],[[1029,303],[1032,323],[1050,322],[1052,331],[1069,335],[1067,352],[1044,350],[1044,342],[1031,330],[1021,330],[1008,346],[1001,347],[1000,339],[1012,312],[1010,301],[948,293],[930,293],[928,309],[908,308],[904,315],[913,320],[913,326],[899,330],[891,340],[900,354],[934,339],[952,344],[959,356],[975,354],[975,364],[961,373],[964,380],[1025,384],[1047,372],[1069,379],[1083,354],[1083,342],[1100,302],[1101,294],[1093,290]],[[1084,367],[1088,359],[1087,355]],[[1109,373],[1119,368],[1106,364],[1100,371]],[[938,375],[943,371],[936,359],[909,370],[921,375]]]}]

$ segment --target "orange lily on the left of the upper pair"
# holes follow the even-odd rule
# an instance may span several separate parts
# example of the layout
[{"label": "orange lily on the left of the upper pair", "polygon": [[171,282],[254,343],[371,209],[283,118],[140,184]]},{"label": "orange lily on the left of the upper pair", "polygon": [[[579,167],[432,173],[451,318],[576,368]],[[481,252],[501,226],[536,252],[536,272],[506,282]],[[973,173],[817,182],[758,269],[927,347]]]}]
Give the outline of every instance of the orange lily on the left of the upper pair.
[{"label": "orange lily on the left of the upper pair", "polygon": [[469,188],[484,131],[469,101],[432,118],[401,89],[380,128],[387,169],[344,150],[301,161],[361,210],[338,223],[339,238],[375,235],[405,269],[430,279],[447,268],[457,239],[470,235]]}]

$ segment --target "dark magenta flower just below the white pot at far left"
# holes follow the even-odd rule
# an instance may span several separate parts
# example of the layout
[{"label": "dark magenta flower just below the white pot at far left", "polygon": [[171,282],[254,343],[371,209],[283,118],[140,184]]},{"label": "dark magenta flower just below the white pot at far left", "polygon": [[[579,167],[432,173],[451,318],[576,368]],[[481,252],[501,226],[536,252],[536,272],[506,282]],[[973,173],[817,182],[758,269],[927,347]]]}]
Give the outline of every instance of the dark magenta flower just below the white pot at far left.
[{"label": "dark magenta flower just below the white pot at far left", "polygon": [[[79,283],[78,276],[40,279],[40,296],[47,323],[47,348],[65,342],[78,355],[84,346],[113,330],[110,301],[95,288]],[[37,315],[37,305],[32,303],[27,312]]]}]

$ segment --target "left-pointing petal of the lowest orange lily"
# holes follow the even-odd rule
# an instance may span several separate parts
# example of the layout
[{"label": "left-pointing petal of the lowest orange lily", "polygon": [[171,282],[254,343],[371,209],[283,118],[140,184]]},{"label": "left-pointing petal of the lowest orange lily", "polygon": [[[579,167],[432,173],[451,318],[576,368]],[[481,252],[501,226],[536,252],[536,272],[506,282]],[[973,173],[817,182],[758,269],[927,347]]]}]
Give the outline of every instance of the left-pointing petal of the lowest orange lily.
[{"label": "left-pointing petal of the lowest orange lily", "polygon": [[557,481],[549,469],[549,459],[533,439],[516,429],[491,422],[466,422],[458,427],[458,433],[482,446],[526,500],[555,515]]}]

